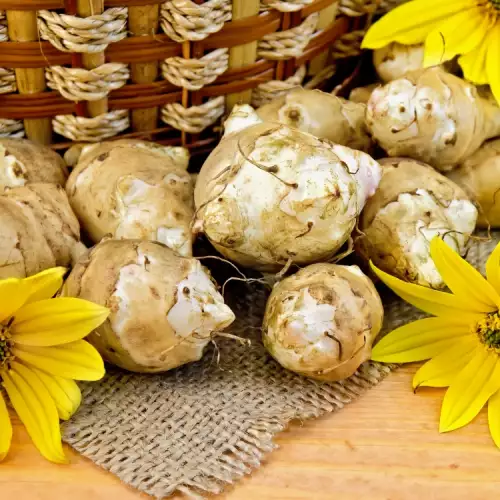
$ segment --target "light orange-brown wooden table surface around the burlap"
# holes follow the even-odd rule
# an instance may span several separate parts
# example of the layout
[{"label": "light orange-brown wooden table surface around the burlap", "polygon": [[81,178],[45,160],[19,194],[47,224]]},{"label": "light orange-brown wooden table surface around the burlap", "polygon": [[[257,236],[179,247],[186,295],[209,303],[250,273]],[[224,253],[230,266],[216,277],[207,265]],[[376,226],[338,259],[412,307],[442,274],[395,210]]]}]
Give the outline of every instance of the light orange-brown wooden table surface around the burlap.
[{"label": "light orange-brown wooden table surface around the burlap", "polygon": [[[485,500],[500,498],[500,450],[486,415],[465,429],[437,431],[442,390],[411,390],[415,367],[391,374],[335,415],[293,425],[280,449],[221,500]],[[3,500],[140,500],[75,452],[72,465],[44,461],[15,421],[14,444],[0,465]]]}]

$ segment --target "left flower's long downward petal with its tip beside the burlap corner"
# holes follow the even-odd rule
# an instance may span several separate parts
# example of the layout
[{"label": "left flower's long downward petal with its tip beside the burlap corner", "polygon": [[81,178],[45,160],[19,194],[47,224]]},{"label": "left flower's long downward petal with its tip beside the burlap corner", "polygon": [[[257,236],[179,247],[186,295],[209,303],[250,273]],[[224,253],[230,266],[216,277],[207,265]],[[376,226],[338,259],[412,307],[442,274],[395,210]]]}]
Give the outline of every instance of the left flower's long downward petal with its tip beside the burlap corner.
[{"label": "left flower's long downward petal with its tip beside the burlap corner", "polygon": [[40,453],[51,462],[66,463],[57,410],[43,384],[19,363],[2,373],[12,406]]}]

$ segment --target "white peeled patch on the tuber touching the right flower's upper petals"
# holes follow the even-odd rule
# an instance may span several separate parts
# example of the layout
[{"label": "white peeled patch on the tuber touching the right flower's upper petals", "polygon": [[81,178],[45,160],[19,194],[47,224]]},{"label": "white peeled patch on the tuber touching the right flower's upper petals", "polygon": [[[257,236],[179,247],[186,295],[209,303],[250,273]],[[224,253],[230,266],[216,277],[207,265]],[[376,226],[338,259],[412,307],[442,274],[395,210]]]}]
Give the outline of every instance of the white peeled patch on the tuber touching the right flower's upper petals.
[{"label": "white peeled patch on the tuber touching the right flower's upper petals", "polygon": [[[422,220],[424,213],[428,221]],[[451,248],[463,253],[466,237],[475,228],[477,210],[468,200],[453,200],[444,207],[425,189],[418,189],[416,194],[400,194],[397,201],[378,212],[377,218],[398,221],[392,225],[397,229],[403,254],[418,270],[417,282],[439,288],[443,280],[431,259],[429,243],[435,236],[444,235]],[[405,219],[417,219],[416,228],[405,225]]]}]

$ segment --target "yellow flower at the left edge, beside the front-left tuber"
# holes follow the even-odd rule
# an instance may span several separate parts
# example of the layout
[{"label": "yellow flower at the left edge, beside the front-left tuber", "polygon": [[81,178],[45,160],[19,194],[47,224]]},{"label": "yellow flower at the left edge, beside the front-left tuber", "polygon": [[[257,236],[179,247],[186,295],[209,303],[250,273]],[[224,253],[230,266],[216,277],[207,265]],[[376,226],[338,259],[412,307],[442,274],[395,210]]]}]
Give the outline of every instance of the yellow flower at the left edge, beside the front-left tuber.
[{"label": "yellow flower at the left edge, beside the front-left tuber", "polygon": [[[99,380],[104,363],[83,337],[108,309],[75,298],[55,298],[65,270],[0,281],[0,380],[40,453],[65,463],[59,419],[80,405],[75,380]],[[0,389],[0,460],[10,448],[12,424]]]}]

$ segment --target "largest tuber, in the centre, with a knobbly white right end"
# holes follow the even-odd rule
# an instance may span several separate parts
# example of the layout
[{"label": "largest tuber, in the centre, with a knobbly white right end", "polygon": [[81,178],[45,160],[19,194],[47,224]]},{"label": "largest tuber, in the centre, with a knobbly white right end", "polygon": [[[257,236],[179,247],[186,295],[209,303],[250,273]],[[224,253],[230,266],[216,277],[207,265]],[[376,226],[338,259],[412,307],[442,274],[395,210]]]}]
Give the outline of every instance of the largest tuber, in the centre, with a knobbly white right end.
[{"label": "largest tuber, in the centre, with a knobbly white right end", "polygon": [[236,106],[198,175],[194,229],[226,258],[260,271],[328,260],[379,179],[367,154],[286,125],[256,124],[250,106]]}]

